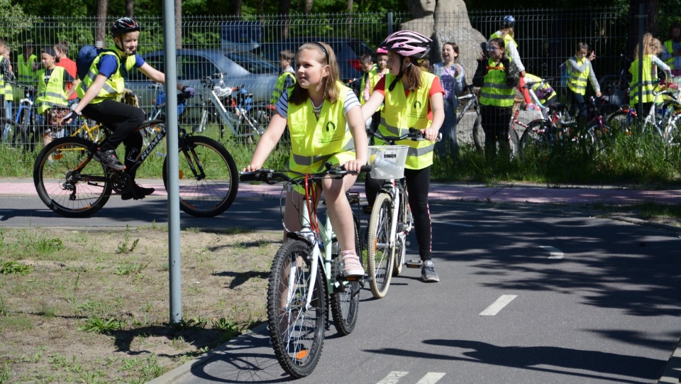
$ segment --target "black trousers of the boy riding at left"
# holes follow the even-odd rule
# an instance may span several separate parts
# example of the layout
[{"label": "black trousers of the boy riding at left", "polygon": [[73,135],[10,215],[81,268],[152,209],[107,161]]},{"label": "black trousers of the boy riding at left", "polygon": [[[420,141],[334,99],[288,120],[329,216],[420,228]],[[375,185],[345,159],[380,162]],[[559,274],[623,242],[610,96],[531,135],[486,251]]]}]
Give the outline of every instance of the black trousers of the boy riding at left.
[{"label": "black trousers of the boy riding at left", "polygon": [[[88,119],[104,124],[111,129],[111,136],[102,143],[99,149],[116,149],[123,143],[126,146],[125,164],[131,168],[135,163],[135,158],[142,150],[142,133],[135,131],[144,122],[146,116],[142,109],[135,106],[106,99],[104,102],[87,104],[83,109],[83,114]],[[131,172],[133,179],[135,172]]]}]

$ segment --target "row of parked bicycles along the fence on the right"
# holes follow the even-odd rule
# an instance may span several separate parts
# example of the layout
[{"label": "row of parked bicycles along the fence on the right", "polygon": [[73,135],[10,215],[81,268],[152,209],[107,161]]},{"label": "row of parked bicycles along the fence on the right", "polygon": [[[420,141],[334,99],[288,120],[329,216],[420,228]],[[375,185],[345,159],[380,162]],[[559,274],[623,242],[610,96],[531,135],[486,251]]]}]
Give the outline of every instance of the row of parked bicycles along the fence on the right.
[{"label": "row of parked bicycles along the fence on the right", "polygon": [[[587,99],[587,116],[575,119],[568,113],[569,106],[562,103],[543,104],[533,89],[548,83],[526,82],[526,89],[533,101],[535,110],[541,117],[527,121],[521,111],[527,106],[523,102],[512,115],[509,125],[509,145],[511,155],[522,156],[527,151],[546,151],[558,146],[579,144],[587,149],[602,150],[609,139],[618,132],[626,136],[632,133],[653,133],[665,146],[675,146],[681,142],[681,92],[675,82],[658,82],[653,92],[654,102],[646,105],[646,111],[639,114],[629,104],[621,105],[621,97],[590,97]],[[539,87],[536,85],[539,84]],[[480,125],[480,104],[472,85],[465,87],[458,97],[458,121],[465,114],[475,112],[472,136],[478,150],[485,147],[485,133]],[[640,119],[639,119],[640,116]],[[537,116],[535,116],[537,117]]]}]

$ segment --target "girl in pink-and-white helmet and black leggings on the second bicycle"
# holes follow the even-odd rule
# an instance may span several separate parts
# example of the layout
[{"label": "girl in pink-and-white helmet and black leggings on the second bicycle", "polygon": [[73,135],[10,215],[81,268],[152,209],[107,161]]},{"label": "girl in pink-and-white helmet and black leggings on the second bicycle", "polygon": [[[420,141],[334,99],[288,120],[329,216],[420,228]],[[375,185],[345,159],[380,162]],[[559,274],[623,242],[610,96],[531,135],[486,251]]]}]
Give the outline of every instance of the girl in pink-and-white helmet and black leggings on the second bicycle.
[{"label": "girl in pink-and-white helmet and black leggings on the second bicycle", "polygon": [[[434,142],[438,137],[445,112],[440,79],[419,67],[431,52],[431,39],[414,31],[399,31],[389,35],[379,46],[388,51],[389,74],[380,79],[374,92],[362,106],[368,119],[385,102],[379,131],[383,136],[401,136],[409,128],[423,132],[425,141],[398,141],[409,146],[404,177],[409,191],[409,207],[414,216],[414,231],[423,261],[421,279],[440,281],[435,272],[431,247],[431,216],[428,209],[428,189],[431,180]],[[380,143],[380,140],[377,140]],[[367,175],[367,178],[369,176]],[[373,205],[381,180],[367,181],[367,200]]]}]

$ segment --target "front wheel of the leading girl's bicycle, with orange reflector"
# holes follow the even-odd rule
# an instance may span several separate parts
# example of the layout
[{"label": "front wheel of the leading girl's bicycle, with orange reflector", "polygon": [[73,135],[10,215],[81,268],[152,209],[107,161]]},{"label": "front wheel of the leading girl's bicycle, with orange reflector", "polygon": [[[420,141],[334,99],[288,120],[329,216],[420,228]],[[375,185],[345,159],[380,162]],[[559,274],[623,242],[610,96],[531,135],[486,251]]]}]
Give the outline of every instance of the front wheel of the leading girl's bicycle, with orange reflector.
[{"label": "front wheel of the leading girl's bicycle, with orange reflector", "polygon": [[289,240],[279,248],[272,262],[267,287],[267,323],[272,348],[284,371],[302,378],[314,371],[324,343],[324,280],[316,272],[312,300],[310,290],[310,247],[299,240]]}]

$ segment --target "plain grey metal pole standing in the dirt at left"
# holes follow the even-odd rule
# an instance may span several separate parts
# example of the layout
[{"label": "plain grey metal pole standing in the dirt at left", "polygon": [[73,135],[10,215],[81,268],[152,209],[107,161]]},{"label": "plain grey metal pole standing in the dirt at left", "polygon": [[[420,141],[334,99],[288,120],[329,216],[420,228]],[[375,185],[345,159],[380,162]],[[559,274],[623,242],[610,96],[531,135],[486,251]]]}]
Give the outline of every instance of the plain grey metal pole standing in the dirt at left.
[{"label": "plain grey metal pole standing in the dirt at left", "polygon": [[168,159],[168,273],[170,322],[182,322],[182,270],[179,254],[179,165],[177,150],[177,61],[175,60],[175,2],[163,0],[165,35],[165,124]]}]

